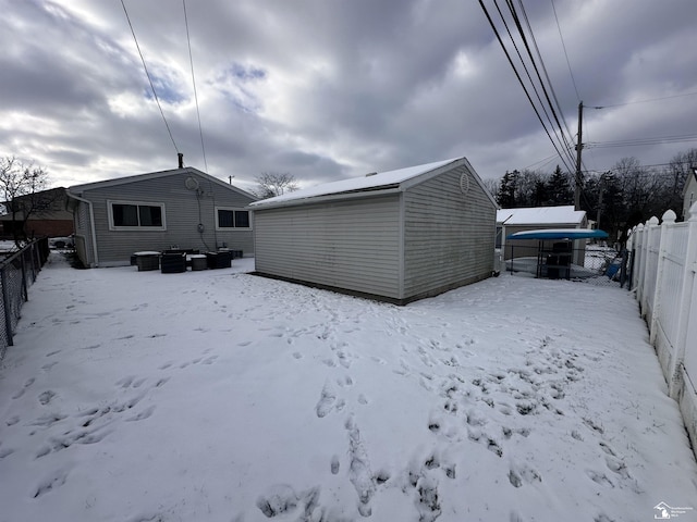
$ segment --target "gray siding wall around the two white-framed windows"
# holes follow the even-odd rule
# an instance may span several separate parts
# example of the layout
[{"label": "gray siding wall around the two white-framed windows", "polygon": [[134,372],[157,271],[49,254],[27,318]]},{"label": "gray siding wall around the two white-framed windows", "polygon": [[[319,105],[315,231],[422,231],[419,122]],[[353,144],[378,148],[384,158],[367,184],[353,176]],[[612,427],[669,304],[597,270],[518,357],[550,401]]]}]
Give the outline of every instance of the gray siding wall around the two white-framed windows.
[{"label": "gray siding wall around the two white-framed windows", "polygon": [[[185,181],[188,177],[199,182],[198,191],[186,188]],[[215,214],[215,207],[244,209],[254,200],[212,183],[195,172],[175,172],[124,184],[97,186],[78,192],[77,196],[93,203],[100,266],[129,264],[131,254],[139,250],[160,251],[172,247],[213,251],[225,246],[233,250],[242,250],[245,256],[254,253],[252,231],[217,231]],[[110,229],[109,201],[163,203],[166,229]],[[86,203],[81,203],[82,206],[86,207]],[[204,226],[203,233],[198,231],[199,223]],[[86,241],[90,243],[89,234],[85,233],[84,236]]]}]

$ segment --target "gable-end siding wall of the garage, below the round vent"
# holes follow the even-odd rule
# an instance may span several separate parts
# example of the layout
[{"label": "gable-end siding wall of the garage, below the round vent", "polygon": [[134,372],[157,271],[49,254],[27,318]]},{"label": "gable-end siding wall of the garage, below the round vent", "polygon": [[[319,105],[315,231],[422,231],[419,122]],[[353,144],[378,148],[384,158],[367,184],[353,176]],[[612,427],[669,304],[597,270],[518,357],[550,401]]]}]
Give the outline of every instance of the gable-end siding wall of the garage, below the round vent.
[{"label": "gable-end siding wall of the garage, below the round vent", "polygon": [[[466,194],[461,176],[469,179]],[[491,275],[496,207],[461,165],[404,194],[403,299],[425,297]]]}]

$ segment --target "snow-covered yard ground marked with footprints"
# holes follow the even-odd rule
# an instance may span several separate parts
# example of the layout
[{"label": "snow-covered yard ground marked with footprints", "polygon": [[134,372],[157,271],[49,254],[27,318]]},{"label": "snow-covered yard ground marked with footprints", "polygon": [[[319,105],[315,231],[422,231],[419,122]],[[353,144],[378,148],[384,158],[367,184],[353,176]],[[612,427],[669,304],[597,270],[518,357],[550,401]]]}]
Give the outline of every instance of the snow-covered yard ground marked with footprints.
[{"label": "snow-covered yard ground marked with footprints", "polygon": [[502,274],[395,307],[252,263],[51,254],[0,369],[0,521],[697,520],[626,290]]}]

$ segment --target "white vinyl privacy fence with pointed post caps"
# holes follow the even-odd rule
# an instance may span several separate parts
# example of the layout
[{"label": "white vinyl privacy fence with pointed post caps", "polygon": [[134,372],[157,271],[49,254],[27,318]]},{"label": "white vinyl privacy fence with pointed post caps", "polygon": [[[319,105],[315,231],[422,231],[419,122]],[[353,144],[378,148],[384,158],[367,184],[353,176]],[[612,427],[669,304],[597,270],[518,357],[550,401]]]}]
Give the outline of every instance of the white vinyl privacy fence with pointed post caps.
[{"label": "white vinyl privacy fence with pointed post caps", "polygon": [[649,326],[669,394],[697,453],[697,203],[675,223],[669,210],[631,231],[631,288]]}]

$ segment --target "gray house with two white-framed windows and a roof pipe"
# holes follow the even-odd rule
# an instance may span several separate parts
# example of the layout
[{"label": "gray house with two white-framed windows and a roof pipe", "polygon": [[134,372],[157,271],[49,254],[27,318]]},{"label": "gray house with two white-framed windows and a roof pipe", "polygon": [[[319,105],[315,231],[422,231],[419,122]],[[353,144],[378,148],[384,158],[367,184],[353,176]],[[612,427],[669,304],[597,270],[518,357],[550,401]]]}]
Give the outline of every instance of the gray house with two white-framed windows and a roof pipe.
[{"label": "gray house with two white-framed windows and a roof pipe", "polygon": [[68,189],[75,249],[85,266],[129,264],[171,248],[254,254],[250,194],[191,166]]}]

